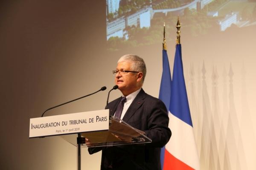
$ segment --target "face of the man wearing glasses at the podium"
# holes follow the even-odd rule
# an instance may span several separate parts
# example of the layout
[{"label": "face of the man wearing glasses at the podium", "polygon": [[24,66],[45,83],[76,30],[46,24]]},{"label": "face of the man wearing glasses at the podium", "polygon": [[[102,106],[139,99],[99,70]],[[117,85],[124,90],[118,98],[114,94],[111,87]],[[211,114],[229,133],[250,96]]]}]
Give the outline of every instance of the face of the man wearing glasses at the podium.
[{"label": "face of the man wearing glasses at the podium", "polygon": [[137,71],[131,70],[131,62],[123,61],[119,62],[116,66],[116,70],[119,73],[116,74],[115,83],[118,85],[118,89],[122,92],[123,95],[127,96],[132,92],[136,91],[138,88],[138,82],[140,79],[138,78],[137,73],[125,73],[123,74],[122,70],[125,71]]}]

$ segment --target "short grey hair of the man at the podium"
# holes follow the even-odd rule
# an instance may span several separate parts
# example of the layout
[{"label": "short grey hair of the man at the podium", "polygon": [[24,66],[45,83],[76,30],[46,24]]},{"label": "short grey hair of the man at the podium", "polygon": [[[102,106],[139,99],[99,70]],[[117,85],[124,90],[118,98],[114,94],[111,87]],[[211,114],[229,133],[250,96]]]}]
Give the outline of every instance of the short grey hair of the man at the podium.
[{"label": "short grey hair of the man at the podium", "polygon": [[119,62],[131,62],[131,71],[139,71],[143,73],[143,82],[144,79],[146,77],[146,73],[147,73],[147,68],[146,68],[146,64],[144,62],[144,60],[142,58],[140,58],[137,55],[134,54],[126,54],[124,56],[122,56],[117,63]]}]

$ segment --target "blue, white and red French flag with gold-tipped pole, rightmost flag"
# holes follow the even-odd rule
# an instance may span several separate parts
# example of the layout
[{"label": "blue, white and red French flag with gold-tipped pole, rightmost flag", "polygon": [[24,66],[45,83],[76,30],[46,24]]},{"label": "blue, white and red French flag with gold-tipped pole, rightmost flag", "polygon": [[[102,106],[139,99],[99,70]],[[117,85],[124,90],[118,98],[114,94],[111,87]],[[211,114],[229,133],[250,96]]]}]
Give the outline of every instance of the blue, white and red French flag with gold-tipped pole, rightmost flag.
[{"label": "blue, white and red French flag with gold-tipped pole, rightmost flag", "polygon": [[[193,124],[186,93],[186,83],[181,56],[180,20],[177,21],[176,51],[172,72],[172,86],[169,105],[169,128],[172,138],[166,144],[163,170],[199,170],[200,163],[195,143]],[[169,153],[169,154],[168,154]]]}]

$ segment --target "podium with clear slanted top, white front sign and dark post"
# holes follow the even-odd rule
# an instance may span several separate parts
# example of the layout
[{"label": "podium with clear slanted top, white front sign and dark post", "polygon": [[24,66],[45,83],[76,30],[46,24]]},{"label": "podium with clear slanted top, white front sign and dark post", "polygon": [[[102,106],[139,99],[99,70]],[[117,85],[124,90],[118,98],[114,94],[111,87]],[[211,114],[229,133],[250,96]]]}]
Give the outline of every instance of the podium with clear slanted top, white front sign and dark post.
[{"label": "podium with clear slanted top, white front sign and dark post", "polygon": [[70,113],[30,119],[29,138],[60,136],[77,147],[77,169],[81,170],[81,147],[111,147],[152,142],[145,133],[109,110]]}]

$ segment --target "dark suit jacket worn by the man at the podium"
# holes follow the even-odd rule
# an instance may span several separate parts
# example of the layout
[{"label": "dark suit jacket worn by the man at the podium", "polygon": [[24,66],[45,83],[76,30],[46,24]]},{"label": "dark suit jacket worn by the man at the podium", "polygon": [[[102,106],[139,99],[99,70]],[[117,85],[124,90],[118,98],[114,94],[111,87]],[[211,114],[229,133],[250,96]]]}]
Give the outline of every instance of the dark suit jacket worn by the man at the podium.
[{"label": "dark suit jacket worn by the man at the podium", "polygon": [[[113,116],[120,100],[121,97],[109,103],[110,115]],[[171,137],[169,117],[164,103],[141,89],[122,120],[143,130],[152,142],[102,147],[101,170],[161,170],[160,150]],[[99,150],[88,149],[90,154]]]}]

